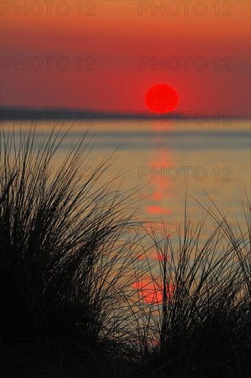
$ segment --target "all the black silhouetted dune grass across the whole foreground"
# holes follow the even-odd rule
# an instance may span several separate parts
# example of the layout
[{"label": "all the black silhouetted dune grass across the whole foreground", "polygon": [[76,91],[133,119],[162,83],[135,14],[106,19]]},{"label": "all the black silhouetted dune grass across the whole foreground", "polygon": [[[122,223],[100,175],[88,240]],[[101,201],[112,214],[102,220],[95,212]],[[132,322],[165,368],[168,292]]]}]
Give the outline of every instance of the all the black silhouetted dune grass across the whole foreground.
[{"label": "all the black silhouetted dune grass across the whole foreground", "polygon": [[186,209],[178,243],[139,236],[112,156],[80,185],[86,135],[49,177],[60,135],[1,130],[0,377],[251,377],[250,201],[246,230],[212,203],[206,240]]}]

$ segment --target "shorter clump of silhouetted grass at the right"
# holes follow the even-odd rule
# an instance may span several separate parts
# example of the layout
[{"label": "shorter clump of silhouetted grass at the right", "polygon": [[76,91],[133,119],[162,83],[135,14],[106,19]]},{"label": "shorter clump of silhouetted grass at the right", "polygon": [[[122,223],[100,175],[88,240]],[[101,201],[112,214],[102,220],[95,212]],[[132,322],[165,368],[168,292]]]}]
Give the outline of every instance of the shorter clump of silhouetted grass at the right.
[{"label": "shorter clump of silhouetted grass at the right", "polygon": [[[148,284],[138,278],[141,294],[132,304],[148,377],[251,376],[250,201],[243,210],[246,232],[238,221],[230,228],[212,202],[198,230],[192,230],[186,214],[184,236],[179,234],[176,245],[167,234],[160,239],[150,233],[160,276],[150,265],[146,276],[155,283],[156,296],[152,303],[142,302]],[[202,243],[208,219],[217,227]]]}]

